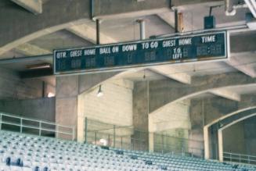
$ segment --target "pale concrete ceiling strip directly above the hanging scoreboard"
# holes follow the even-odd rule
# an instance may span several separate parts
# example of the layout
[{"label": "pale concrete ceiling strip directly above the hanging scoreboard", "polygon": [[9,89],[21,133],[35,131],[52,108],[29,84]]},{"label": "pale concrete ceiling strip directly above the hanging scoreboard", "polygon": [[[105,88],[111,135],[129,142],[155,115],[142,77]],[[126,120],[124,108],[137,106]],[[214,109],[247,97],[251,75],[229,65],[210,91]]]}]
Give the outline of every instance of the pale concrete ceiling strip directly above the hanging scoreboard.
[{"label": "pale concrete ceiling strip directly above the hanging scoreboard", "polygon": [[[50,0],[42,0],[42,3],[46,2],[50,2]],[[204,16],[208,15],[209,8],[213,5],[221,5],[221,7],[217,7],[212,11],[212,13],[215,15],[217,26],[233,25],[242,22],[244,23],[245,12],[247,12],[248,9],[238,9],[235,16],[225,16],[224,2],[207,2],[194,5],[182,5],[178,7],[178,12],[182,12],[183,14],[184,30],[189,31],[203,29]],[[174,12],[171,11],[165,11],[162,13],[160,12],[157,15],[139,17],[133,16],[128,18],[103,20],[101,23],[100,31],[102,34],[106,35],[106,37],[111,37],[116,42],[138,40],[139,24],[135,22],[138,19],[146,20],[146,37],[174,33]],[[86,22],[85,24],[95,31],[95,22]],[[55,33],[38,37],[32,41],[27,42],[26,44],[31,45],[32,48],[38,52],[38,54],[33,53],[33,55],[42,55],[48,52],[52,52],[52,49],[86,47],[88,45],[92,45],[94,42],[89,43],[88,39],[85,40],[85,37],[96,37],[96,34],[86,35],[88,30],[82,30],[81,23],[78,25],[78,29],[81,29],[82,33],[84,34],[83,36],[80,35],[80,37],[78,37],[74,34],[74,32],[70,34],[70,31],[59,30]],[[90,32],[88,34],[93,33]],[[102,40],[103,39],[104,37],[102,37]],[[18,46],[3,55],[0,55],[0,59],[13,58],[13,56],[21,57],[31,55],[23,51],[24,48],[31,49],[31,46],[28,48],[27,45],[23,45],[23,47]]]}]

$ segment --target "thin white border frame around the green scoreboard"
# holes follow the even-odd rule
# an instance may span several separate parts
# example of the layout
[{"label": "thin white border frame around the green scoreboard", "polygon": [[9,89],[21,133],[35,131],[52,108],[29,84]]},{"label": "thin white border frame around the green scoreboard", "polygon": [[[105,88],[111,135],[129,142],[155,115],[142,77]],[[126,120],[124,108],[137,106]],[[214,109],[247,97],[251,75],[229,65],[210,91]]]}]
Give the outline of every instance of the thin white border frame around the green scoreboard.
[{"label": "thin white border frame around the green scoreboard", "polygon": [[[65,70],[65,71],[59,71],[56,69],[56,53],[58,52],[70,52],[70,51],[75,51],[75,50],[86,50],[86,49],[96,49],[99,51],[99,48],[108,48],[112,46],[122,46],[122,45],[142,45],[147,42],[154,42],[154,41],[165,41],[165,40],[176,40],[176,39],[182,39],[182,38],[188,38],[188,37],[200,37],[204,35],[216,35],[216,34],[223,34],[224,35],[224,55],[220,56],[209,56],[209,57],[204,57],[204,58],[193,58],[193,59],[177,59],[177,60],[166,60],[164,62],[147,62],[147,63],[139,63],[135,65],[126,65],[126,66],[105,66],[105,67],[100,67],[100,68],[95,68],[95,69],[71,69],[71,70]],[[162,38],[155,38],[155,39],[146,39],[142,41],[127,41],[127,42],[121,42],[121,43],[115,43],[115,44],[108,44],[108,45],[95,45],[91,47],[86,47],[86,48],[67,48],[67,49],[58,49],[54,50],[53,52],[53,73],[55,75],[62,75],[62,74],[78,74],[78,73],[99,73],[99,72],[107,72],[107,71],[117,71],[117,70],[124,70],[124,69],[129,69],[129,68],[138,68],[138,67],[146,67],[146,66],[157,66],[157,65],[166,65],[166,64],[185,64],[188,62],[202,62],[202,61],[220,61],[220,60],[225,60],[229,58],[229,39],[228,39],[228,31],[227,30],[218,30],[218,31],[204,31],[202,33],[197,33],[197,34],[183,34],[183,35],[175,35],[173,37],[162,37]],[[175,45],[176,47],[180,47]],[[171,47],[173,48],[173,47]],[[145,52],[149,50],[146,49]],[[161,51],[164,51],[164,47],[161,47]],[[136,51],[135,51],[136,52]],[[118,52],[117,52],[118,53]],[[124,53],[124,52],[122,52]],[[126,52],[128,53],[128,52]],[[197,53],[196,53],[197,54]],[[89,55],[88,55],[89,56]],[[82,56],[81,56],[82,57]],[[86,58],[85,56],[83,56]],[[96,58],[99,58],[99,54],[96,55]],[[72,59],[70,56],[66,57]],[[65,59],[66,59],[65,58]],[[76,59],[76,57],[73,57],[73,59]],[[59,60],[59,59],[58,59]]]}]

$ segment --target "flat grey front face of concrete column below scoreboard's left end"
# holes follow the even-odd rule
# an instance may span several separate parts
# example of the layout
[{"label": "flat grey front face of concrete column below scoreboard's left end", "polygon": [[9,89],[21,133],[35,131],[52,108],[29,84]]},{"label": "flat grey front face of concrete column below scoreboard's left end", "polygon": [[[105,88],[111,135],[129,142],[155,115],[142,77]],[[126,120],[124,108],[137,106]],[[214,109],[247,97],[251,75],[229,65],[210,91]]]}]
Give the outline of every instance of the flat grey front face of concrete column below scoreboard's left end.
[{"label": "flat grey front face of concrete column below scoreboard's left end", "polygon": [[[56,123],[77,126],[78,120],[78,76],[56,77]],[[59,128],[56,128],[59,130]],[[76,132],[76,131],[75,131]],[[70,139],[70,136],[57,134]]]}]

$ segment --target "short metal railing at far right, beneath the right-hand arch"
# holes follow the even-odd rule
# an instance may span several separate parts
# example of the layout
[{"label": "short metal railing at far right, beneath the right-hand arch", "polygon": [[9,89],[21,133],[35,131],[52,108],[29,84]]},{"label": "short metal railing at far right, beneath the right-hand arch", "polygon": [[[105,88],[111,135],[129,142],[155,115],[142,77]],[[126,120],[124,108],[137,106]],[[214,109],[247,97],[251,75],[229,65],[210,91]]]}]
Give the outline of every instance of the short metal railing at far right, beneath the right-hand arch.
[{"label": "short metal railing at far right, beneath the right-hand arch", "polygon": [[254,155],[241,155],[231,152],[223,152],[223,159],[225,162],[237,162],[256,165],[256,156]]}]

